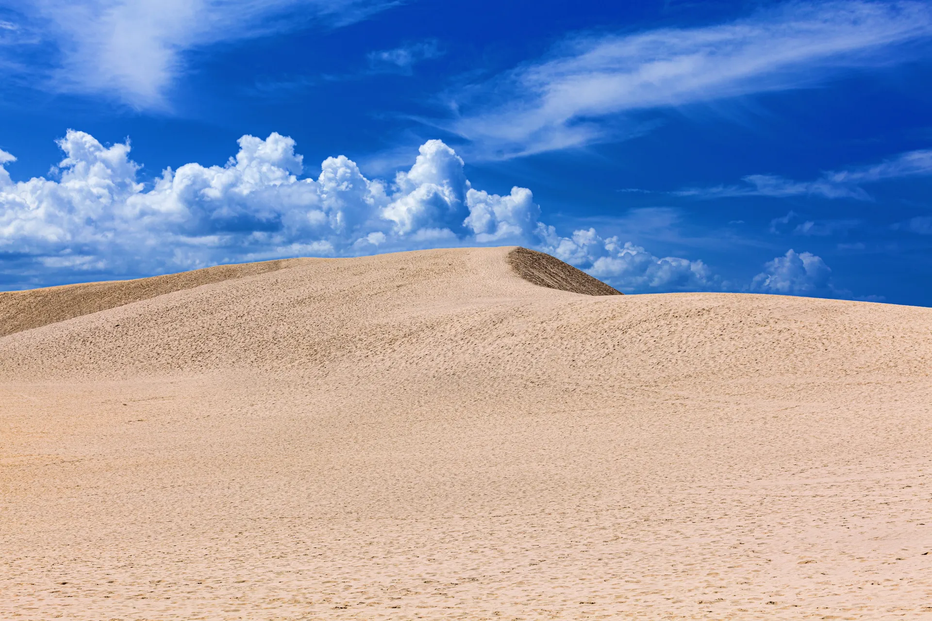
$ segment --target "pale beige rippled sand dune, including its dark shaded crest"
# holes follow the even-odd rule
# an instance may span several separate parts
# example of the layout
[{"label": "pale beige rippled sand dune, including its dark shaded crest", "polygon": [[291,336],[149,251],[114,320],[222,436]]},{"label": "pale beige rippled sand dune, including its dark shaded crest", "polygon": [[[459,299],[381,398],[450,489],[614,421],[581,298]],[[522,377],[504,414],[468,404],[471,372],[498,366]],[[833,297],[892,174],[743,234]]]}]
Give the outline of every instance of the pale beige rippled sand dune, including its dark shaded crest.
[{"label": "pale beige rippled sand dune, including its dark shaded crest", "polygon": [[932,309],[513,251],[0,294],[0,618],[932,620]]}]

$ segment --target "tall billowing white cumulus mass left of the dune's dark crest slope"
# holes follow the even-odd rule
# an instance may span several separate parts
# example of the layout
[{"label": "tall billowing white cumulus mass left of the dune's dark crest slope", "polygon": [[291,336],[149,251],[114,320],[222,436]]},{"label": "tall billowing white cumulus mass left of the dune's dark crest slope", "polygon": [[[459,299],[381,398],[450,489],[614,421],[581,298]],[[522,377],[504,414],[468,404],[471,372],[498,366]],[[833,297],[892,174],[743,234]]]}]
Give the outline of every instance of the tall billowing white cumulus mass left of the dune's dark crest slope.
[{"label": "tall billowing white cumulus mass left of the dune's dark crest slope", "polygon": [[146,190],[128,143],[104,147],[69,130],[59,142],[60,181],[13,183],[4,171],[0,243],[36,255],[81,249],[195,266],[227,256],[337,254],[470,233],[520,242],[535,225],[527,217],[537,213],[529,190],[516,192],[524,202],[512,209],[502,207],[514,202],[511,196],[471,195],[462,159],[440,141],[422,145],[414,166],[391,184],[366,179],[343,155],[324,160],[316,180],[299,179],[302,156],[278,133],[239,143],[226,166],[166,169]]}]

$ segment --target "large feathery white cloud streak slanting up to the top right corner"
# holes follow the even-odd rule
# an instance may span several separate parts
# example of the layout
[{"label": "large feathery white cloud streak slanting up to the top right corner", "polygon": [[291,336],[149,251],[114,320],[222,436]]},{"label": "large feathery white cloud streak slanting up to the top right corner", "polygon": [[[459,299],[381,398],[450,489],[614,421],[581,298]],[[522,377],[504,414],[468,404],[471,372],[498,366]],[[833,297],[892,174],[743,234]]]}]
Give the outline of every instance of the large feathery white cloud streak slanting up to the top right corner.
[{"label": "large feathery white cloud streak slanting up to the top right corner", "polygon": [[583,35],[549,60],[463,88],[453,96],[459,116],[445,128],[488,156],[582,145],[612,135],[610,117],[812,86],[842,70],[905,60],[893,48],[929,35],[927,3],[858,1],[782,4],[700,28]]}]

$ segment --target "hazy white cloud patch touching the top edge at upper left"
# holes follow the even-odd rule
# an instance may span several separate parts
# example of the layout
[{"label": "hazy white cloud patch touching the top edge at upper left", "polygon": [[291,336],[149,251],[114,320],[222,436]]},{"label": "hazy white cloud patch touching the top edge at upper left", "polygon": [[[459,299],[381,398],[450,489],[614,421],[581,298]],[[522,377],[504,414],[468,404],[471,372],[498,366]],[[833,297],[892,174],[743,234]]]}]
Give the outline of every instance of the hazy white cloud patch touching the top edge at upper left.
[{"label": "hazy white cloud patch touching the top edge at upper left", "polygon": [[[46,44],[46,88],[166,109],[185,52],[325,20],[361,19],[380,0],[27,0],[22,19]],[[20,29],[17,24],[9,24]],[[38,71],[33,66],[33,71]]]}]

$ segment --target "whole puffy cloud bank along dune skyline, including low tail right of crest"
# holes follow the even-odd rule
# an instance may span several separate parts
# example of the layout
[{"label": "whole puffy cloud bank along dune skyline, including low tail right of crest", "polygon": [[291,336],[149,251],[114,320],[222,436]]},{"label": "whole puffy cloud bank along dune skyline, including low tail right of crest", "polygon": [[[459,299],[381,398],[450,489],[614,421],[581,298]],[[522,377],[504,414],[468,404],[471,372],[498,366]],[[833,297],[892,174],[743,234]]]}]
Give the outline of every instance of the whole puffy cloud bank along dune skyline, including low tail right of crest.
[{"label": "whole puffy cloud bank along dune skyline, including low tail right of crest", "polygon": [[559,236],[528,188],[473,187],[444,142],[418,149],[389,181],[344,155],[302,178],[295,141],[243,136],[226,166],[166,169],[145,185],[130,144],[69,130],[58,179],[14,182],[0,151],[0,260],[8,286],[147,275],[287,256],[521,244],[551,251],[624,290],[719,289],[701,261],[658,258],[595,229]]}]

